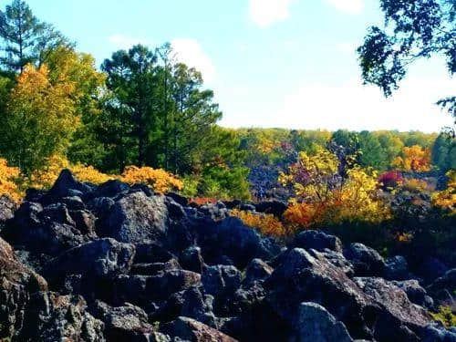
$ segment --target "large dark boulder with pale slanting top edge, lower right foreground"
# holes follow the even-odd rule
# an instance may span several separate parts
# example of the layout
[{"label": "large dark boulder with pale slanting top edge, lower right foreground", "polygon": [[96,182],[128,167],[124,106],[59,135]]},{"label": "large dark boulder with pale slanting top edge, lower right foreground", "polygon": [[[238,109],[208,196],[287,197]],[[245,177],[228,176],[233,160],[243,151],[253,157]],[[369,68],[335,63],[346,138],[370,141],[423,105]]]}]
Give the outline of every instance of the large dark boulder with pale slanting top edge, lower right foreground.
[{"label": "large dark boulder with pale slanting top edge, lower right foreground", "polygon": [[264,283],[267,302],[289,326],[300,303],[316,302],[344,322],[353,337],[370,338],[378,306],[323,254],[314,255],[300,248],[287,253]]}]

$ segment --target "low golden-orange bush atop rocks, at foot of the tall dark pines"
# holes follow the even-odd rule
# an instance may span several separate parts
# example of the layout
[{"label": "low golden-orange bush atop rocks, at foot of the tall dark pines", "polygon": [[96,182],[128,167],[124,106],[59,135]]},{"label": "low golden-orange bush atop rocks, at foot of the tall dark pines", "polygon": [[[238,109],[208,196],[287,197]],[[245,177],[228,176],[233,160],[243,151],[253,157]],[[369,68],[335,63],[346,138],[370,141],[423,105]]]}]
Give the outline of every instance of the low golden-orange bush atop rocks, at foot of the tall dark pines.
[{"label": "low golden-orange bush atop rocks, at foot of the tall dark pines", "polygon": [[129,166],[122,173],[120,180],[129,184],[144,183],[159,193],[183,188],[183,182],[170,172],[150,167]]}]

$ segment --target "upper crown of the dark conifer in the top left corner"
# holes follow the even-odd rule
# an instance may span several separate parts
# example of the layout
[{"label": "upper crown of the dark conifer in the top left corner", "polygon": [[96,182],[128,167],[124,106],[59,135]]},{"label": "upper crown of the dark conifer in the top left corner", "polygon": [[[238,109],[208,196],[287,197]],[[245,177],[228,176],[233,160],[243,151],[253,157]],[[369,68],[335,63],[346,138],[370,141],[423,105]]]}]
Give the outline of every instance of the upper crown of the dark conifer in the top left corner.
[{"label": "upper crown of the dark conifer in the top left corner", "polygon": [[53,26],[40,22],[23,0],[13,0],[0,11],[0,38],[0,65],[15,73],[29,63],[40,67],[53,48],[71,45]]}]

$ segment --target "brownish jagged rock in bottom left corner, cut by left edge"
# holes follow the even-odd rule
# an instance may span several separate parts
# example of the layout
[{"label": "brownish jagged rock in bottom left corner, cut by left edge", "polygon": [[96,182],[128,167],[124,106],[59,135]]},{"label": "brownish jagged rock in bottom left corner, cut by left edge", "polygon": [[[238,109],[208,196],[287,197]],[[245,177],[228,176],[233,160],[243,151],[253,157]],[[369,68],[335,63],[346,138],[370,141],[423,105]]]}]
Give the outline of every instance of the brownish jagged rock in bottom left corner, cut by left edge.
[{"label": "brownish jagged rock in bottom left corner, cut by left edge", "polygon": [[47,282],[16,258],[0,238],[0,340],[16,337],[24,326],[30,294],[47,291]]}]

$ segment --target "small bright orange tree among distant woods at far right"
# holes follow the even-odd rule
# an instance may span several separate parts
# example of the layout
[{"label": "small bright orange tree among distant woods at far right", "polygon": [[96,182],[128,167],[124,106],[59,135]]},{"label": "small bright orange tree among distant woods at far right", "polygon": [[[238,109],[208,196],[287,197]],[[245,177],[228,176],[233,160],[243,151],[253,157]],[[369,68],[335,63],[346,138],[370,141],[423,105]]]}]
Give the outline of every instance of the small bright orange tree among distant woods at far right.
[{"label": "small bright orange tree among distant woods at far right", "polygon": [[430,171],[430,149],[423,149],[420,145],[404,147],[403,157],[396,157],[391,166],[402,171]]}]

